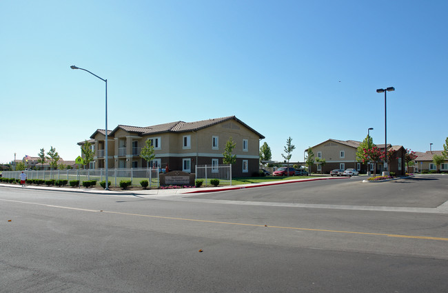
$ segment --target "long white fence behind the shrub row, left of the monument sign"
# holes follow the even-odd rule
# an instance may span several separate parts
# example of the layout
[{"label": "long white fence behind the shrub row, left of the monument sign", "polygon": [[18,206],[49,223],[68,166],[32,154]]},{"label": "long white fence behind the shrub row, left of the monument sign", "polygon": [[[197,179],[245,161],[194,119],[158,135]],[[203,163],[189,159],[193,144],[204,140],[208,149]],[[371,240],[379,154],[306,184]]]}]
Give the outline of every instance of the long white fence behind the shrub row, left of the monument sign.
[{"label": "long white fence behind the shrub row, left of the monument sign", "polygon": [[[3,171],[4,178],[19,179],[22,171]],[[99,186],[101,181],[105,181],[105,169],[86,169],[86,170],[27,170],[27,179],[55,179],[63,180],[79,180],[79,185],[82,186],[83,181],[96,180],[96,185]],[[121,180],[131,180],[132,186],[141,186],[140,181],[148,180],[148,188],[159,188],[159,168],[132,168],[132,169],[109,169],[108,179],[110,186],[119,187]]]}]

